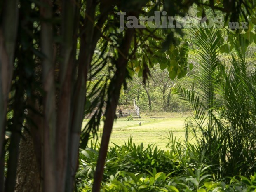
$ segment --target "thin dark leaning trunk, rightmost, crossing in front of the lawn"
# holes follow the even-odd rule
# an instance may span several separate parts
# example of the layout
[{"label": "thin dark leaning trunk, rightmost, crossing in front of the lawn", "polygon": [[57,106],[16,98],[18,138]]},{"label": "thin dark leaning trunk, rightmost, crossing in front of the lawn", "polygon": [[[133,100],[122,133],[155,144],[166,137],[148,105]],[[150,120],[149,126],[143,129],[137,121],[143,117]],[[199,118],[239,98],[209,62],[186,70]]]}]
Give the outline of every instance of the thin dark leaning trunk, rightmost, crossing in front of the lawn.
[{"label": "thin dark leaning trunk, rightmost, crossing in front of the lawn", "polygon": [[96,171],[94,174],[94,183],[93,183],[92,192],[100,191],[101,181],[102,181],[103,172],[104,172],[104,165],[105,165],[106,155],[108,151],[108,143],[109,143],[110,134],[113,128],[115,111],[117,108],[121,87],[126,76],[126,65],[128,61],[127,56],[128,56],[129,48],[131,46],[133,34],[134,34],[134,29],[127,31],[124,39],[122,40],[122,44],[120,45],[120,52],[122,52],[122,54],[120,52],[118,54],[118,59],[115,63],[117,67],[117,71],[109,85],[109,87],[112,87],[112,89],[110,89],[108,92],[109,98],[108,98],[108,103],[105,111],[106,120],[104,122],[104,127],[103,127],[101,147],[99,150],[99,157],[97,161]]}]

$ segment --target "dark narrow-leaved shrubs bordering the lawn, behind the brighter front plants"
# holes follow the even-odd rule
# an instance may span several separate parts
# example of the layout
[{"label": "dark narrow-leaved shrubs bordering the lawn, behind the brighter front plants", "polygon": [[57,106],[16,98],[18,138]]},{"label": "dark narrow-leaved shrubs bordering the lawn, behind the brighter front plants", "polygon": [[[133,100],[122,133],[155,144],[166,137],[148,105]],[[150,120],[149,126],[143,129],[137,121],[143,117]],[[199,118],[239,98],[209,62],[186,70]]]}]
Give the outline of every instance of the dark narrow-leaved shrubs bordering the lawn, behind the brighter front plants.
[{"label": "dark narrow-leaved shrubs bordering the lawn, behind the brighter front plants", "polygon": [[[80,150],[78,175],[85,175],[86,173],[87,177],[93,178],[98,150],[99,145],[93,146],[92,143],[91,148]],[[132,143],[132,138],[130,138],[122,146],[115,145],[115,147],[109,148],[104,176],[108,178],[117,171],[140,171],[141,173],[148,173],[146,170],[152,168],[165,173],[172,171],[179,172],[182,171],[179,164],[178,155],[173,154],[171,151],[160,150],[153,145],[148,145],[145,148],[143,143],[136,145]]]}]

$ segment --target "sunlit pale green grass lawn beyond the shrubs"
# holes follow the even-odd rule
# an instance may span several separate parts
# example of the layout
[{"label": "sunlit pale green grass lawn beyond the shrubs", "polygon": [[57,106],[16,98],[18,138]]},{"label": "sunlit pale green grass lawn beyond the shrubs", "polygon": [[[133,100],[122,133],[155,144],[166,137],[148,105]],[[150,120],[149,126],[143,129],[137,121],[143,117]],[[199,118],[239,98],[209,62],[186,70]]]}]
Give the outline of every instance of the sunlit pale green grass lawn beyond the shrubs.
[{"label": "sunlit pale green grass lawn beyond the shrubs", "polygon": [[[165,114],[142,114],[141,119],[134,118],[127,121],[127,118],[119,118],[115,121],[110,138],[110,146],[122,145],[130,137],[136,144],[143,145],[155,144],[162,149],[166,149],[169,131],[181,140],[185,139],[184,121],[188,114],[165,113]],[[141,122],[141,126],[139,126]],[[103,125],[102,125],[103,126]],[[99,130],[99,139],[101,138],[102,127]]]}]

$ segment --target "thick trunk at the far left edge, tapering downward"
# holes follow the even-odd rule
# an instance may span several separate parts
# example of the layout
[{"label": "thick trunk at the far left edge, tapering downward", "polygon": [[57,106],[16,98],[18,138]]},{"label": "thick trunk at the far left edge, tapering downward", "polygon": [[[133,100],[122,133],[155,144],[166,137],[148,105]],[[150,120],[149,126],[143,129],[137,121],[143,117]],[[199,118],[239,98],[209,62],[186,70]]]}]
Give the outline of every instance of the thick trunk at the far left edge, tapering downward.
[{"label": "thick trunk at the far left edge, tapering downward", "polygon": [[18,0],[2,1],[0,8],[0,192],[4,191],[5,122],[18,28],[18,4]]}]

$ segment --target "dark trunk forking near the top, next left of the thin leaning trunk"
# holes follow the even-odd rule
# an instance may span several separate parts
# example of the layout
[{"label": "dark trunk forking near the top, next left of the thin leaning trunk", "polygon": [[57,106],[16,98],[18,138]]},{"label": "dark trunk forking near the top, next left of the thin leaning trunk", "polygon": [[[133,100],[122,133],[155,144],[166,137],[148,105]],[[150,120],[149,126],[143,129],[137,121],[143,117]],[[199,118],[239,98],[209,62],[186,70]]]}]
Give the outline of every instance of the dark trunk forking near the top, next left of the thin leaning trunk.
[{"label": "dark trunk forking near the top, next left of the thin leaning trunk", "polygon": [[[96,11],[97,3],[94,0],[88,0],[86,7],[86,16],[84,26],[85,28],[80,29],[85,31],[81,35],[80,42],[80,54],[78,58],[78,80],[75,84],[74,97],[73,97],[73,109],[72,109],[72,122],[71,122],[71,133],[70,133],[70,161],[69,161],[69,178],[67,178],[68,186],[73,185],[75,180],[75,173],[78,168],[78,155],[79,155],[79,142],[81,134],[81,126],[84,117],[84,104],[86,101],[86,82],[89,66],[92,62],[92,56],[96,48],[97,42],[102,35],[101,28],[106,22],[107,15],[111,9],[111,4],[103,5],[100,4],[100,9],[104,6],[106,12],[104,12],[97,22],[97,25],[94,26],[94,17]],[[67,191],[72,191],[71,189],[66,189]]]}]

